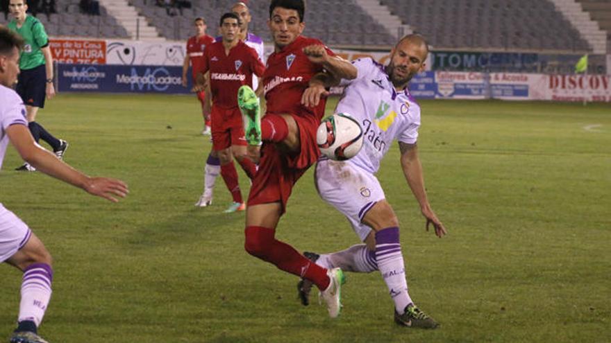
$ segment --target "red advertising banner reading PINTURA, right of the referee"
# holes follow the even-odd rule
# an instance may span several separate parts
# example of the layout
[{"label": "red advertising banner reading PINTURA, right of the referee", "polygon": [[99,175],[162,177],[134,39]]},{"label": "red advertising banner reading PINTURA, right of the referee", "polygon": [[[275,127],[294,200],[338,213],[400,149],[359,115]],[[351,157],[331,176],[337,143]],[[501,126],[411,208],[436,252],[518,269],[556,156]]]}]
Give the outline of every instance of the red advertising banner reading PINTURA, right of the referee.
[{"label": "red advertising banner reading PINTURA, right of the referee", "polygon": [[70,64],[106,64],[106,41],[51,39],[53,60]]}]

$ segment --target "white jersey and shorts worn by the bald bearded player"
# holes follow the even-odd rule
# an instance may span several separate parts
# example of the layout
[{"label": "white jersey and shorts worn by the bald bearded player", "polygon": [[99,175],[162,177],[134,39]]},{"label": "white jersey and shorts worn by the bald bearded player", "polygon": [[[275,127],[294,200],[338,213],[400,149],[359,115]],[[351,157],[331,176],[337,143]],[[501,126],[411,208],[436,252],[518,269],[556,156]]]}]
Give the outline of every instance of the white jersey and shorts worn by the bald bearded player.
[{"label": "white jersey and shorts worn by the bald bearded player", "polygon": [[420,107],[407,87],[396,91],[381,64],[360,58],[353,65],[358,76],[340,83],[346,88],[335,113],[350,114],[360,123],[363,146],[347,161],[321,157],[315,182],[323,200],[342,212],[356,234],[365,240],[371,228],[361,220],[376,202],[385,199],[375,173],[393,141],[416,143]]}]

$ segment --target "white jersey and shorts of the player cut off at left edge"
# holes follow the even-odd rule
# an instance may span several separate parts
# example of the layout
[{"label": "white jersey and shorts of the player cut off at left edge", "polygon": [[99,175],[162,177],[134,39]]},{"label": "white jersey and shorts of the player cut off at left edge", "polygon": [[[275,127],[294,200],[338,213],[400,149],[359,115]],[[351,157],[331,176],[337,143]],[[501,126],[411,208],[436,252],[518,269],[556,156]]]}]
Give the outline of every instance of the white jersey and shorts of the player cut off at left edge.
[{"label": "white jersey and shorts of the player cut off at left edge", "polygon": [[[0,168],[4,161],[10,125],[28,126],[26,107],[15,91],[0,85]],[[0,263],[21,249],[31,235],[28,226],[0,203]]]}]

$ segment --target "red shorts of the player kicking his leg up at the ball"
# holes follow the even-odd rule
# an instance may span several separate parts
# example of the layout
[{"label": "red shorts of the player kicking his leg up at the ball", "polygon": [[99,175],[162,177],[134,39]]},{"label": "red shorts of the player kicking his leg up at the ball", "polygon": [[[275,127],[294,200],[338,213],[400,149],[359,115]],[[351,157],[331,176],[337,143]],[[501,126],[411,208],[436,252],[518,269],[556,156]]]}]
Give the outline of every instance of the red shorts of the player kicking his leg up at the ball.
[{"label": "red shorts of the player kicking his leg up at the ball", "polygon": [[248,206],[280,202],[282,213],[285,213],[293,185],[319,157],[320,152],[316,145],[319,121],[312,116],[294,114],[291,116],[299,127],[301,149],[299,152],[287,153],[279,150],[274,143],[263,144],[261,161],[253,179]]}]

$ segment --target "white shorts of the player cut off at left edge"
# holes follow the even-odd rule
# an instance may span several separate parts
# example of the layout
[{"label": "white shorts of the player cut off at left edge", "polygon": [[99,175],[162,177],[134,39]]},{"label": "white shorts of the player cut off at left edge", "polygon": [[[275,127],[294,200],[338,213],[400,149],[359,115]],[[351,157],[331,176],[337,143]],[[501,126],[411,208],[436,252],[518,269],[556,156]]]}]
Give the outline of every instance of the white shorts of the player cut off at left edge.
[{"label": "white shorts of the player cut off at left edge", "polygon": [[26,223],[0,204],[0,263],[24,247],[31,234]]}]

